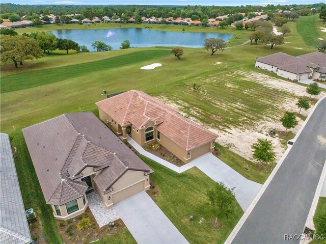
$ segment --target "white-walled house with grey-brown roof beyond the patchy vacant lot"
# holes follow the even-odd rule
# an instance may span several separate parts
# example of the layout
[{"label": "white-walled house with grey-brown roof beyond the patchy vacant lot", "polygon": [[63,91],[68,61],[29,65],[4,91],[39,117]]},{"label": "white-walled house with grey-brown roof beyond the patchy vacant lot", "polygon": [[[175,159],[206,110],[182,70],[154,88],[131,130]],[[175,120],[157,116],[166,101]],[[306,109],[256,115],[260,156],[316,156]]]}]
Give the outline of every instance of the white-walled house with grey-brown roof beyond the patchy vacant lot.
[{"label": "white-walled house with grey-brown roof beyond the patchy vacant lot", "polygon": [[312,52],[307,55],[290,56],[283,52],[256,59],[256,68],[274,72],[277,75],[291,79],[325,79],[326,55],[321,52]]}]

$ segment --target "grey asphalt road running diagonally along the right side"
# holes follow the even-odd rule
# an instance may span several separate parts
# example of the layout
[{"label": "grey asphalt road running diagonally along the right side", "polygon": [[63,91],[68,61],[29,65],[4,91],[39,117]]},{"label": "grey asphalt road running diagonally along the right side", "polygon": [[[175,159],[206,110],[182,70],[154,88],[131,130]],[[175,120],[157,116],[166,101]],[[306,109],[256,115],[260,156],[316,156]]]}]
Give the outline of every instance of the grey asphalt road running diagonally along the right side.
[{"label": "grey asphalt road running diagonally along the right side", "polygon": [[283,164],[232,243],[299,243],[326,160],[326,98],[293,144]]}]

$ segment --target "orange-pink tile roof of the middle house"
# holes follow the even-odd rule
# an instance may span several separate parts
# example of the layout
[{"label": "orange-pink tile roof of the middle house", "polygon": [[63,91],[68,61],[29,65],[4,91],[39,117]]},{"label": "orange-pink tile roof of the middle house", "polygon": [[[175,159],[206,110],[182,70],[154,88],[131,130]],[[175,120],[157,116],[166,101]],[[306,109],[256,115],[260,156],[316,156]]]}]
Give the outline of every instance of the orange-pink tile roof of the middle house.
[{"label": "orange-pink tile roof of the middle house", "polygon": [[131,90],[99,101],[96,105],[123,127],[132,124],[144,129],[149,120],[154,121],[158,131],[184,150],[192,150],[218,137],[184,118],[171,106],[141,91]]}]

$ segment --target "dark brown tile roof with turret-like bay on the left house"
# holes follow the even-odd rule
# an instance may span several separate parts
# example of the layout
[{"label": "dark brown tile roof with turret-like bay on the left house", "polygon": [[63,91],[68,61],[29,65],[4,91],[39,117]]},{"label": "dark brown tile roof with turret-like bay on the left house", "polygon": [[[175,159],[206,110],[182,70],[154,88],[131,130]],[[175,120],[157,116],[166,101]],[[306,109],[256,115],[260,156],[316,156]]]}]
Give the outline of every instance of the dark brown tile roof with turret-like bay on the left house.
[{"label": "dark brown tile roof with turret-like bay on the left house", "polygon": [[[121,176],[121,168],[151,173],[93,113],[65,114],[22,129],[47,204],[63,205],[80,198],[88,186],[78,178],[86,167],[105,192],[118,178],[103,178],[107,171]],[[105,187],[104,187],[105,186]]]}]

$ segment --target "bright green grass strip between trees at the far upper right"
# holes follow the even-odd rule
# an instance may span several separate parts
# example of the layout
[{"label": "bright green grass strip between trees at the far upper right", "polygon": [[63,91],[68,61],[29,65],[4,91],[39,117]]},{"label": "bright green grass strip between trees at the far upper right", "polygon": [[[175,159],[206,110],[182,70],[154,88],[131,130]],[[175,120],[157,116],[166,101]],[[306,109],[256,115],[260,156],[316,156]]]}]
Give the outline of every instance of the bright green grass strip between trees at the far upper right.
[{"label": "bright green grass strip between trees at the far upper right", "polygon": [[[307,45],[314,46],[317,39],[322,37],[321,35],[323,32],[319,29],[319,27],[321,27],[321,22],[318,14],[302,16],[298,19],[296,30]],[[323,33],[323,38],[325,35],[326,34]]]}]

